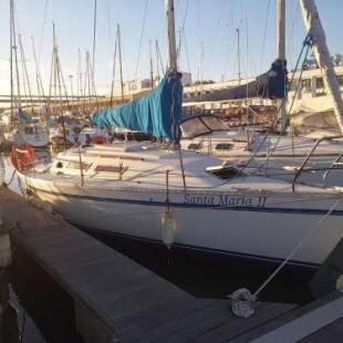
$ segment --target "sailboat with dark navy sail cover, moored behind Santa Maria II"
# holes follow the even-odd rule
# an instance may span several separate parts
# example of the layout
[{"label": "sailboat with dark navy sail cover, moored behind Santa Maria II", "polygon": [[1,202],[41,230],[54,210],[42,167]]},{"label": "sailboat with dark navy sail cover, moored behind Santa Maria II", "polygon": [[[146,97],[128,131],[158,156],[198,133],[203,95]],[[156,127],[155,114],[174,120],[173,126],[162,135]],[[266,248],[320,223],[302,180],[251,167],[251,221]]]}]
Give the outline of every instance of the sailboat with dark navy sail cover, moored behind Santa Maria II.
[{"label": "sailboat with dark navy sail cover, moored behind Santa Maria II", "polygon": [[[331,103],[335,104],[336,126],[337,129],[342,132],[342,124],[340,124],[342,123],[341,115],[343,113],[342,97],[333,62],[326,48],[325,34],[321,27],[314,2],[301,1],[301,4],[305,25],[310,32],[309,38],[312,40],[319,65],[323,67],[323,70],[330,70],[330,72],[326,73],[326,77],[324,77],[325,89],[329,91],[328,97],[332,100]],[[250,96],[267,95],[270,97],[270,94],[276,98],[282,98],[284,96],[284,85],[287,83],[287,72],[282,72],[282,61],[284,61],[284,1],[279,0],[277,8],[279,19],[279,55],[277,62],[280,61],[280,66],[276,67],[276,65],[273,65],[270,72],[258,76],[256,81],[250,82],[248,85],[198,95],[197,97],[199,101],[220,98],[222,96],[226,98],[228,96],[230,98],[242,98],[245,92],[249,92]],[[313,29],[314,25],[316,27],[315,29]],[[319,50],[319,44],[325,53]],[[273,64],[276,64],[276,62]],[[285,62],[283,65],[285,65]],[[267,76],[270,75],[271,72],[273,72],[273,77],[271,77],[272,84],[270,86],[271,82],[268,81]],[[283,91],[282,86],[280,87],[282,83]],[[277,90],[277,92],[273,92],[273,90]],[[196,98],[193,101],[195,100]],[[285,108],[282,102],[280,113],[281,122],[283,122],[281,126],[283,126],[285,123]],[[293,180],[302,166],[303,159],[310,154],[306,168],[303,169],[304,173],[302,173],[300,177],[301,181],[343,186],[341,162],[343,136],[337,132],[313,132],[302,136],[294,136],[292,133],[289,133],[289,135],[269,134],[266,138],[264,135],[258,132],[239,132],[237,129],[225,129],[222,127],[224,125],[219,123],[219,119],[215,121],[215,118],[210,118],[206,115],[187,118],[181,123],[181,129],[186,138],[181,141],[181,144],[187,149],[194,149],[201,154],[212,154],[231,163],[238,163],[251,173],[258,173],[283,180]],[[322,139],[319,145],[316,145],[318,139]],[[313,149],[314,146],[315,149]],[[251,158],[251,156],[253,156],[253,158]]]}]

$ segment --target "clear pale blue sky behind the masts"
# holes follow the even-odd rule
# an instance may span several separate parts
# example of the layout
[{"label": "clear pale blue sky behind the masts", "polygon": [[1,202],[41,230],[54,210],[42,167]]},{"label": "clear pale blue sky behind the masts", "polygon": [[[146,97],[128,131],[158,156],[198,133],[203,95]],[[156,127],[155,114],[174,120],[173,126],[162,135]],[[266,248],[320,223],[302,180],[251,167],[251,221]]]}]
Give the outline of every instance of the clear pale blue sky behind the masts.
[{"label": "clear pale blue sky behind the masts", "polygon": [[[287,0],[287,58],[289,69],[305,37],[299,0]],[[9,3],[0,0],[0,94],[10,92]],[[93,50],[95,0],[14,0],[17,33],[21,34],[25,63],[35,92],[34,39],[45,93],[52,53],[52,22],[59,54],[70,91],[76,92],[79,50],[85,70],[85,53]],[[97,0],[95,39],[95,84],[97,93],[110,93],[116,24],[121,25],[124,80],[149,77],[149,41],[156,64],[155,40],[166,60],[164,0]],[[332,53],[343,53],[342,0],[316,0]],[[232,80],[238,76],[237,31],[240,31],[242,76],[270,66],[276,51],[276,0],[175,0],[179,69],[193,80]],[[180,43],[179,43],[180,42]],[[202,61],[202,62],[201,62]],[[20,63],[21,64],[21,61]],[[116,62],[115,80],[118,80]],[[156,73],[156,67],[155,67]],[[73,75],[73,77],[69,77]],[[22,80],[23,77],[21,77]],[[21,81],[22,82],[22,81]]]}]

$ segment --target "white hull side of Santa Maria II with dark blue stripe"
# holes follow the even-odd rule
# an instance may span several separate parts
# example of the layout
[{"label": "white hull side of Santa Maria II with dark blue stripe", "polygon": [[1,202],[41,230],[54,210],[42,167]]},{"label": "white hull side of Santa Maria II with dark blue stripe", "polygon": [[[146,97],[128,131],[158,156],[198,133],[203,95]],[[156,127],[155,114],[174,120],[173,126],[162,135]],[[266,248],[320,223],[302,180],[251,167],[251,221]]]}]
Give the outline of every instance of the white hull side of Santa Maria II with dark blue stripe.
[{"label": "white hull side of Santa Maria II with dark blue stripe", "polygon": [[[21,176],[21,178],[25,178]],[[163,190],[98,189],[30,178],[22,180],[66,220],[93,230],[162,242]],[[299,200],[284,195],[170,193],[174,243],[189,249],[278,262],[313,230],[336,198]],[[336,209],[291,263],[316,268],[343,237]],[[272,225],[271,225],[272,224]]]}]

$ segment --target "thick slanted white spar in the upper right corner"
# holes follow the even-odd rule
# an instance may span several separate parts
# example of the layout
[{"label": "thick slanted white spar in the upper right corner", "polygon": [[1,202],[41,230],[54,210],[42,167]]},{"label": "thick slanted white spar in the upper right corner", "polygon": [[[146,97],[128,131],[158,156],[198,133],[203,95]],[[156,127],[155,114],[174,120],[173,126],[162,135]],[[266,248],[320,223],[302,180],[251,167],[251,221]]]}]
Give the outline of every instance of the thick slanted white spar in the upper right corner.
[{"label": "thick slanted white spar in the upper right corner", "polygon": [[343,101],[333,62],[326,45],[325,32],[319,18],[314,1],[300,0],[300,4],[305,27],[311,35],[314,56],[324,73],[324,85],[329,97],[332,100],[334,114],[337,119],[339,127],[343,134]]}]

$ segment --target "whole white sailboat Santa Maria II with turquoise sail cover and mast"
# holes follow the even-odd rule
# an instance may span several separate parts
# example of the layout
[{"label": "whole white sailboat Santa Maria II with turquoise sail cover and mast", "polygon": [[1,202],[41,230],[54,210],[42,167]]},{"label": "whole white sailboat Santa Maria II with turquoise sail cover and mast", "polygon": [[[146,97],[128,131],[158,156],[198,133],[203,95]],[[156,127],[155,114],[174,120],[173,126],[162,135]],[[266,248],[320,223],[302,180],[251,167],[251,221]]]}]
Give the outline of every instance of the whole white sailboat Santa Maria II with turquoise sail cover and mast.
[{"label": "whole white sailboat Santa Maria II with turquoise sail cover and mast", "polygon": [[[289,263],[315,270],[343,238],[342,191],[251,176],[222,160],[179,149],[181,75],[174,1],[167,1],[169,67],[149,95],[98,111],[98,126],[139,129],[158,143],[84,144],[50,164],[12,153],[22,187],[66,220],[94,232],[276,263],[318,224]],[[34,173],[32,173],[32,169]],[[322,217],[326,215],[325,220]]]}]

